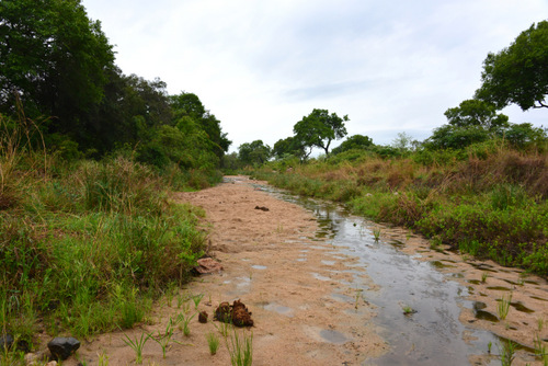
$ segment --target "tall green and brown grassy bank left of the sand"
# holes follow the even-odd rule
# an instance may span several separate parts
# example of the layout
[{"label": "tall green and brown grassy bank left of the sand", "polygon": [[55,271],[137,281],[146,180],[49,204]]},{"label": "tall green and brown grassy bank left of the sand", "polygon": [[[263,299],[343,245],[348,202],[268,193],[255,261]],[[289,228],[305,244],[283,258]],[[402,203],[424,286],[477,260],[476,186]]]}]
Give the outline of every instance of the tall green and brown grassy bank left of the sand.
[{"label": "tall green and brown grassy bank left of the sand", "polygon": [[2,138],[0,334],[32,348],[38,332],[130,328],[189,279],[203,213],[171,202],[169,190],[189,174],[186,184],[203,186],[206,174],[160,174],[124,157],[68,163],[24,135]]}]

